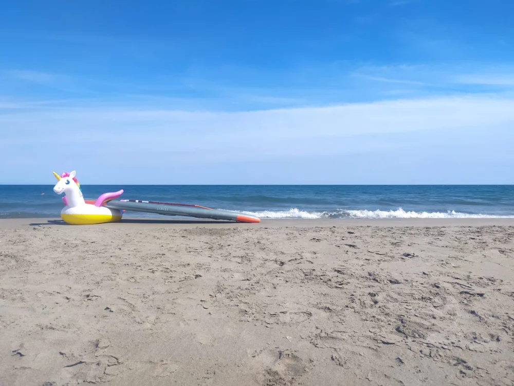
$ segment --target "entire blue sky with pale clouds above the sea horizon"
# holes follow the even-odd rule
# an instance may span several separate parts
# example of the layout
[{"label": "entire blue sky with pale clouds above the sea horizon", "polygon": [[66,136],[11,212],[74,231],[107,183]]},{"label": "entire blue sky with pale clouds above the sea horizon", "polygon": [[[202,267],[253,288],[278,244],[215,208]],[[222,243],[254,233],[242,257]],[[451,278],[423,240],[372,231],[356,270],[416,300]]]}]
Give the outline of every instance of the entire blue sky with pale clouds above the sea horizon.
[{"label": "entire blue sky with pale clouds above the sea horizon", "polygon": [[514,2],[0,2],[0,184],[512,184]]}]

